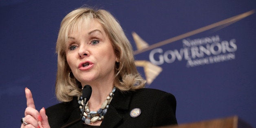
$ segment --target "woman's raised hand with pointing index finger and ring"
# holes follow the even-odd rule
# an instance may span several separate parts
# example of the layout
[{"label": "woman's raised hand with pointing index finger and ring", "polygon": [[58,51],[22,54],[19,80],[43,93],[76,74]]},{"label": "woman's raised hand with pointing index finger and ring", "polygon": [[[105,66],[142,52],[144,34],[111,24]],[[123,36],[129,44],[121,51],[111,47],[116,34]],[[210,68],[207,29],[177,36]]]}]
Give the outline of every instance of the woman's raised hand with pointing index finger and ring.
[{"label": "woman's raised hand with pointing index finger and ring", "polygon": [[26,110],[24,122],[21,124],[21,128],[50,128],[48,117],[45,114],[45,109],[42,108],[40,112],[35,109],[32,93],[28,88],[25,88],[26,94]]}]

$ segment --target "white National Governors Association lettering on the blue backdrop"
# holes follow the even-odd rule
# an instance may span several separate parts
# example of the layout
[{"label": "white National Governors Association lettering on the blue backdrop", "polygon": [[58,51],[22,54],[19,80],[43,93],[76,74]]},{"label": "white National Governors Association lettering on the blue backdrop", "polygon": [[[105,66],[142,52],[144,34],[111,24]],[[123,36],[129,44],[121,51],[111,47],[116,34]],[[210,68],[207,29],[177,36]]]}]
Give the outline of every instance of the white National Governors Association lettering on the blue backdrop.
[{"label": "white National Governors Association lettering on the blue backdrop", "polygon": [[150,51],[152,64],[173,63],[186,60],[187,67],[214,64],[235,59],[236,39],[222,40],[218,35],[190,40],[183,39],[183,48],[163,51],[161,48]]}]

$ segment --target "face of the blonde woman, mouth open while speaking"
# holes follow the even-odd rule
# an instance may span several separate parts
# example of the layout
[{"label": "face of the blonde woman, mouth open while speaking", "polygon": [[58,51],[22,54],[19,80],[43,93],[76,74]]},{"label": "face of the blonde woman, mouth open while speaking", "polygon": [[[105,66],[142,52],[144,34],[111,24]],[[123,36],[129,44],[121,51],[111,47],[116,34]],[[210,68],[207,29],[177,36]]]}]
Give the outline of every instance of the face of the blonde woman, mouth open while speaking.
[{"label": "face of the blonde woman, mouth open while speaking", "polygon": [[68,36],[66,47],[66,59],[73,75],[82,86],[113,81],[117,57],[102,25],[92,20],[81,28]]}]

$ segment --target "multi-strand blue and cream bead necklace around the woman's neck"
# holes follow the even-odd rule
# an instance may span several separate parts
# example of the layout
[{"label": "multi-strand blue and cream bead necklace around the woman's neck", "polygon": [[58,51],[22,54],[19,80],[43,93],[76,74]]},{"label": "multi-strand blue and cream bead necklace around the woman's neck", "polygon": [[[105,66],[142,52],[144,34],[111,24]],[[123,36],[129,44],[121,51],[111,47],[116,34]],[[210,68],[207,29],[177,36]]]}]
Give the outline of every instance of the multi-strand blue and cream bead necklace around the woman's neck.
[{"label": "multi-strand blue and cream bead necklace around the woman's neck", "polygon": [[[90,111],[88,102],[86,103],[85,108],[84,108],[83,117],[82,117],[82,121],[84,121],[85,124],[90,124],[90,122],[93,123],[93,122],[100,121],[100,120],[104,119],[104,115],[107,113],[107,109],[109,107],[109,104],[110,104],[113,96],[114,96],[115,90],[116,90],[116,88],[114,87],[112,92],[110,92],[108,94],[107,99],[103,102],[102,107],[99,108],[97,110],[97,112]],[[83,100],[82,96],[78,97],[77,100],[78,100],[78,104],[80,105],[79,108],[82,112],[83,106],[84,106],[84,100]]]}]

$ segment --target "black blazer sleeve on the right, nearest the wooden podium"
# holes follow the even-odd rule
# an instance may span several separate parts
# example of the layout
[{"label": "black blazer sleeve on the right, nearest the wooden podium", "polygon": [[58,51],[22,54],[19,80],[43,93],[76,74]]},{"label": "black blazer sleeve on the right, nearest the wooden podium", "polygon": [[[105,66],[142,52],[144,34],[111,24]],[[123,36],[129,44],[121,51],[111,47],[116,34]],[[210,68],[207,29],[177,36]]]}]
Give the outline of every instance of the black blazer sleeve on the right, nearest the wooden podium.
[{"label": "black blazer sleeve on the right, nearest the wooden podium", "polygon": [[162,95],[154,110],[153,126],[166,126],[177,124],[176,119],[176,99],[174,95],[165,93]]}]

